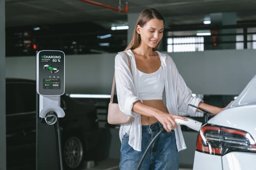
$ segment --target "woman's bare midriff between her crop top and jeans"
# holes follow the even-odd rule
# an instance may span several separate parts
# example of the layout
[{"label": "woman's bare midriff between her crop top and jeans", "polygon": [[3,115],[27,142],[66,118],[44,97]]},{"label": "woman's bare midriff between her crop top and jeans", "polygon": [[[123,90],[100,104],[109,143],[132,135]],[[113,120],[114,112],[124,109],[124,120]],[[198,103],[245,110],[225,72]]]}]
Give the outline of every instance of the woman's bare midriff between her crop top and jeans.
[{"label": "woman's bare midriff between her crop top and jeans", "polygon": [[[143,103],[148,106],[154,107],[156,109],[159,109],[163,112],[168,113],[168,110],[164,106],[162,100],[144,100]],[[153,118],[153,117],[147,117],[147,116],[141,115],[140,118],[141,118],[142,125],[150,125],[150,124],[154,124],[154,123],[158,122],[158,119]]]}]

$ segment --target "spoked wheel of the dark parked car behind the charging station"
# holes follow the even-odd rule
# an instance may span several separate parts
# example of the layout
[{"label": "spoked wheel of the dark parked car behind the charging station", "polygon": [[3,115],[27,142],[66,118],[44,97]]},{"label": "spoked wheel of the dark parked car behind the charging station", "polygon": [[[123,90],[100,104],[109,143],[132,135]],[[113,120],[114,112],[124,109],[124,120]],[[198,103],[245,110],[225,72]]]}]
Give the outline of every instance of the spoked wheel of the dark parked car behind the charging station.
[{"label": "spoked wheel of the dark parked car behind the charging station", "polygon": [[84,157],[84,144],[85,143],[78,136],[69,136],[64,139],[62,159],[66,169],[79,169]]}]

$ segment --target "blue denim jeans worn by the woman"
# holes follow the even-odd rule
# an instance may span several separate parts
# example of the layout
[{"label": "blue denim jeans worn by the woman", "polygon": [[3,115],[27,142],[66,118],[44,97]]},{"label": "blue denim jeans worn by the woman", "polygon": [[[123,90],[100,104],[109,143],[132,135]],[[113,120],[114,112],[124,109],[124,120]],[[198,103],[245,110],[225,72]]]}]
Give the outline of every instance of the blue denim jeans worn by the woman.
[{"label": "blue denim jeans worn by the woman", "polygon": [[[120,170],[137,170],[138,164],[150,142],[162,129],[161,123],[142,125],[141,152],[129,144],[129,135],[122,137]],[[152,144],[140,166],[140,170],[178,170],[179,152],[176,147],[175,132],[164,132]]]}]

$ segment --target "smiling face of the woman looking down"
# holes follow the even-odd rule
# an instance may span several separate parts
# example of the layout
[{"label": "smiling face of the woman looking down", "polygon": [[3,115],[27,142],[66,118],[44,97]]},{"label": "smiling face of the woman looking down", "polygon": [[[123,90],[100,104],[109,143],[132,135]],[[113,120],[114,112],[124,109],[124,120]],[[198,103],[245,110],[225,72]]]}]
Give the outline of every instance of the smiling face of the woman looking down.
[{"label": "smiling face of the woman looking down", "polygon": [[143,27],[137,26],[137,33],[140,34],[140,45],[156,48],[163,37],[163,20],[150,19]]}]

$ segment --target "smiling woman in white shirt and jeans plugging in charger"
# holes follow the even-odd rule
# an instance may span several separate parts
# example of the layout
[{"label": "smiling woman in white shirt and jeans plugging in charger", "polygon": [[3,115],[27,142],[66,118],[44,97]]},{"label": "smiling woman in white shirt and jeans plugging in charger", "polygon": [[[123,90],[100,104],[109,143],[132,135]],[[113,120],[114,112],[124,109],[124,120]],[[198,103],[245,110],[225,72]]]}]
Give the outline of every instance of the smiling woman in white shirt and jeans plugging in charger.
[{"label": "smiling woman in white shirt and jeans plugging in charger", "polygon": [[175,119],[186,120],[184,115],[202,115],[196,108],[189,107],[189,103],[216,114],[223,109],[192,97],[172,58],[156,51],[163,30],[161,14],[155,9],[144,9],[138,17],[133,39],[125,49],[131,69],[124,52],[119,52],[115,58],[119,108],[126,115],[135,117],[132,123],[120,126],[121,170],[137,169],[147,146],[162,128],[166,132],[145,155],[141,170],[178,170],[178,152],[186,146]]}]

